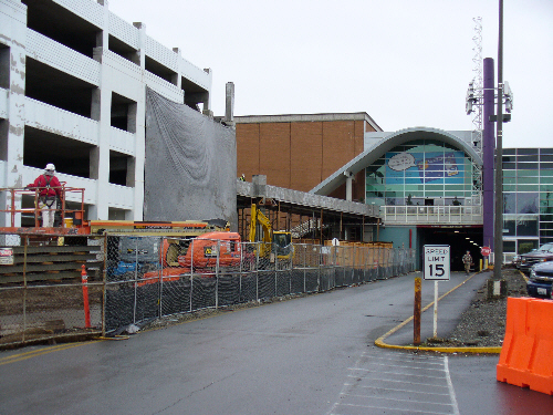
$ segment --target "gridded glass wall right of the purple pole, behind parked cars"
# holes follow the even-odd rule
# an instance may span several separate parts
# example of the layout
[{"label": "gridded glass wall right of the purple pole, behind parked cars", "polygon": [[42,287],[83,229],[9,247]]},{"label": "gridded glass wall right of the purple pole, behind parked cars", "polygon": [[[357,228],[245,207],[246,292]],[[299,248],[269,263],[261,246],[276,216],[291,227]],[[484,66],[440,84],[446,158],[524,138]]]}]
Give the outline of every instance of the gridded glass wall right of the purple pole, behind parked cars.
[{"label": "gridded glass wall right of the purple pole, behind parked cars", "polygon": [[553,242],[553,148],[503,149],[503,251]]}]

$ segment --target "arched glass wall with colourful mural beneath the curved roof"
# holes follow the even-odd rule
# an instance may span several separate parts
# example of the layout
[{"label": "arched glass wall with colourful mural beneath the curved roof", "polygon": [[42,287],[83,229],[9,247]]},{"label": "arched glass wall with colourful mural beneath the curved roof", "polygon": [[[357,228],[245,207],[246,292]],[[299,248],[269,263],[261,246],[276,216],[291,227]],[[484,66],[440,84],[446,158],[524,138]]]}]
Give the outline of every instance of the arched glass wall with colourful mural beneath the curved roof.
[{"label": "arched glass wall with colourful mural beneath the curved roof", "polygon": [[434,139],[395,147],[366,168],[367,204],[469,205],[472,163],[465,152]]}]

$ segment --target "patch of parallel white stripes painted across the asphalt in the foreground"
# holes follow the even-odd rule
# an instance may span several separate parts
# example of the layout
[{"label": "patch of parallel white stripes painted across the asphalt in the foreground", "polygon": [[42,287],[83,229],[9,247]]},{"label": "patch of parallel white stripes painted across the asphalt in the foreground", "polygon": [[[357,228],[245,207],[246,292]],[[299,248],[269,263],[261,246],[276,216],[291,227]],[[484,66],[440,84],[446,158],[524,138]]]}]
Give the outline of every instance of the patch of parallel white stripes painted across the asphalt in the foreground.
[{"label": "patch of parallel white stripes painted across the asphalt in the foreground", "polygon": [[363,353],[327,415],[459,415],[447,356]]}]

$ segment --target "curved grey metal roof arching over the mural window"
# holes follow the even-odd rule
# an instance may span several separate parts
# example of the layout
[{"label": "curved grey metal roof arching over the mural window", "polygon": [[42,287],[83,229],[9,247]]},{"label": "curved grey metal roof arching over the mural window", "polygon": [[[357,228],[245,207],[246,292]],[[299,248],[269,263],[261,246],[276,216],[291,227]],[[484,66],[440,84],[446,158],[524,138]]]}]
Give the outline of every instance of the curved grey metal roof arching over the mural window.
[{"label": "curved grey metal roof arching over the mural window", "polygon": [[357,157],[352,159],[349,163],[347,163],[346,165],[342,166],[340,169],[334,172],[324,181],[322,181],[316,187],[312,188],[310,193],[314,193],[316,195],[328,195],[337,187],[343,185],[346,181],[348,175],[352,174],[355,175],[358,172],[363,170],[365,167],[371,166],[386,152],[389,152],[393,148],[404,143],[422,138],[437,139],[447,143],[449,145],[452,145],[456,148],[462,149],[479,165],[483,164],[482,158],[474,152],[474,149],[468,143],[463,142],[459,137],[456,137],[451,133],[448,133],[444,129],[428,128],[428,127],[406,128],[397,131],[386,136],[375,146],[366,149]]}]

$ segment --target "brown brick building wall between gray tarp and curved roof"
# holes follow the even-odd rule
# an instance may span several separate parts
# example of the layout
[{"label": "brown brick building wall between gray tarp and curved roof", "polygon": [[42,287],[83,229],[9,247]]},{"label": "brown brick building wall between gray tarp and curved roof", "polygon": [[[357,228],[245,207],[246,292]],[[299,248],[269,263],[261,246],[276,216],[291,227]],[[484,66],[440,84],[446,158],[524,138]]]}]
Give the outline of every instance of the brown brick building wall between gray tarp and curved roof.
[{"label": "brown brick building wall between gray tarp and curved roof", "polygon": [[[237,121],[237,176],[267,175],[267,184],[309,191],[363,153],[364,133],[379,127],[365,113],[249,116]],[[375,128],[376,127],[376,128]],[[357,174],[353,198],[364,197]],[[333,197],[345,198],[345,186]]]}]

